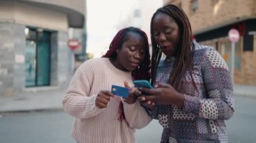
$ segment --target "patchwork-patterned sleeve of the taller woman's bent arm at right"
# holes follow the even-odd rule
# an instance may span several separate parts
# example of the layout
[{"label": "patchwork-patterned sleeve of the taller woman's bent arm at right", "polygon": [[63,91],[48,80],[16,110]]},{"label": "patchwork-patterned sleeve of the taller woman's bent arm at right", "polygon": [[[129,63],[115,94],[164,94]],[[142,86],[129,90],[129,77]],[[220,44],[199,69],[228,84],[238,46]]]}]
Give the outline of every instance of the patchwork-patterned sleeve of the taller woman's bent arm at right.
[{"label": "patchwork-patterned sleeve of the taller woman's bent arm at right", "polygon": [[228,120],[234,112],[234,97],[226,62],[210,48],[203,54],[200,65],[206,98],[185,95],[183,111],[205,119]]}]

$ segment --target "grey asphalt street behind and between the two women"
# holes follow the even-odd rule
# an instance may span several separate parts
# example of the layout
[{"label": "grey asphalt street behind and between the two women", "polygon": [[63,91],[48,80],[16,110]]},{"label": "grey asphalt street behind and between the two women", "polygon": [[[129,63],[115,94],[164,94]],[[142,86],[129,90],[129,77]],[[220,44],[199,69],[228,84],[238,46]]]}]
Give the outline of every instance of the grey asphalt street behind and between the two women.
[{"label": "grey asphalt street behind and between the two women", "polygon": [[[256,98],[235,97],[235,113],[226,122],[231,143],[255,142]],[[0,117],[0,140],[3,143],[75,143],[71,138],[73,117],[63,111],[5,113]],[[136,131],[137,142],[160,142],[162,127],[154,120]]]}]

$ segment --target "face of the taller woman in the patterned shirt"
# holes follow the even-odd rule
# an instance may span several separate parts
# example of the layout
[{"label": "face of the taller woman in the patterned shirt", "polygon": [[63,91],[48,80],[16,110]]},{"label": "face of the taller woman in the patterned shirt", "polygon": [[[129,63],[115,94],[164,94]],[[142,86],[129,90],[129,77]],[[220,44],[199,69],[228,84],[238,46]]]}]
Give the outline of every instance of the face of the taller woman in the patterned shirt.
[{"label": "face of the taller woman in the patterned shirt", "polygon": [[154,40],[162,52],[166,56],[175,56],[180,39],[179,26],[176,21],[165,13],[158,13],[152,21],[152,30]]}]

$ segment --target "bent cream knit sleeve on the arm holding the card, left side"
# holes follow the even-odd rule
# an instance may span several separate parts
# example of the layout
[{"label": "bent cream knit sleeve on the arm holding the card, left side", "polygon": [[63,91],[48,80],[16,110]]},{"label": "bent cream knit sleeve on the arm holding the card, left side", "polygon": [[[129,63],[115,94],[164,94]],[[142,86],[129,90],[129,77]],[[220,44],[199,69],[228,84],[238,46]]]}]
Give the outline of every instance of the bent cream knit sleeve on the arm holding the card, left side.
[{"label": "bent cream knit sleeve on the arm holding the card, left side", "polygon": [[79,119],[86,119],[98,115],[102,109],[96,107],[97,95],[90,95],[93,72],[90,64],[82,64],[77,68],[63,98],[65,111]]}]

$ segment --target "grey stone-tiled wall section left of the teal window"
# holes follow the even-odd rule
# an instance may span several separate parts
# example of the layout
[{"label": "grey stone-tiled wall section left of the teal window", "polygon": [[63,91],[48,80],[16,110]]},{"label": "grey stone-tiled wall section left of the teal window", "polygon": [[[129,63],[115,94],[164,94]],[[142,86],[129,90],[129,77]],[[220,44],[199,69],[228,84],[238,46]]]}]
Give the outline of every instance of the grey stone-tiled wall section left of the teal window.
[{"label": "grey stone-tiled wall section left of the teal window", "polygon": [[23,25],[0,23],[0,96],[13,95],[13,87],[24,88],[24,28]]}]

